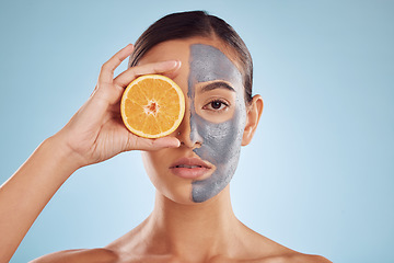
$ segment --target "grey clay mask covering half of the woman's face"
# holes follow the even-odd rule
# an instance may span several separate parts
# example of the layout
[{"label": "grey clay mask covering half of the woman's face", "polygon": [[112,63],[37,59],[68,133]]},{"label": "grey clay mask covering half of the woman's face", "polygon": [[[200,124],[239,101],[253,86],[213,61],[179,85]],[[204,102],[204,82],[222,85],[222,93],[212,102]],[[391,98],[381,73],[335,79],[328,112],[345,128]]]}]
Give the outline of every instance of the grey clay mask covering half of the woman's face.
[{"label": "grey clay mask covering half of the woman's face", "polygon": [[[241,151],[246,110],[242,75],[232,61],[218,48],[204,44],[190,45],[190,72],[188,98],[190,99],[190,139],[201,146],[194,152],[216,165],[211,176],[193,182],[192,198],[205,202],[219,194],[231,181]],[[222,123],[209,122],[196,113],[195,87],[197,83],[224,80],[236,93],[233,116]]]}]

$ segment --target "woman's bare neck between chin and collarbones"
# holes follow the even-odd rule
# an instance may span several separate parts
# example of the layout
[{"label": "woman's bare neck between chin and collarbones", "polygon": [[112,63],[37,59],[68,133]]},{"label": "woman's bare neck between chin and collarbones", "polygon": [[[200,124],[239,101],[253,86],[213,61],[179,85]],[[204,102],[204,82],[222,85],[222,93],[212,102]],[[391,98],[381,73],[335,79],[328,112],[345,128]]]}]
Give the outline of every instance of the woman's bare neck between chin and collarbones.
[{"label": "woman's bare neck between chin and collarbones", "polygon": [[231,248],[229,243],[236,240],[241,226],[232,210],[229,185],[211,199],[193,205],[178,204],[157,193],[147,221],[155,250],[194,260],[228,254],[221,250]]}]

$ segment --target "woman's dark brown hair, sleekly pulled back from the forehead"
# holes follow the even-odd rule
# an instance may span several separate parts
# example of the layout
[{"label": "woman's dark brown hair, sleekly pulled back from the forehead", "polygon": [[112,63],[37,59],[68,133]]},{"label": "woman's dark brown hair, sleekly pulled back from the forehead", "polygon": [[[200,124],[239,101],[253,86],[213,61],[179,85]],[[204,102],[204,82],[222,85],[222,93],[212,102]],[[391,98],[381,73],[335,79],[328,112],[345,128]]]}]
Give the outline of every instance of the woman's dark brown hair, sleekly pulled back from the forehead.
[{"label": "woman's dark brown hair, sleekly pulled back from the forehead", "polygon": [[137,39],[129,67],[136,66],[147,52],[162,42],[193,36],[216,36],[236,53],[245,88],[245,101],[250,103],[253,82],[252,56],[231,25],[205,11],[172,13],[158,20]]}]

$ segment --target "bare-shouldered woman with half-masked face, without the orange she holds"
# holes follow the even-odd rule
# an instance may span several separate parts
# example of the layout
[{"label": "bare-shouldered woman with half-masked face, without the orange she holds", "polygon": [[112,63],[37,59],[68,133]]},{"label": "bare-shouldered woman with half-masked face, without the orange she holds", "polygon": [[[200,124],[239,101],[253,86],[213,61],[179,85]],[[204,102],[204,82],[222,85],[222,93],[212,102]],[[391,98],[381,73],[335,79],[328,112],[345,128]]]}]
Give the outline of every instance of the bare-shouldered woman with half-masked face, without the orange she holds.
[{"label": "bare-shouldered woman with half-masked face, without the orange she holds", "polygon": [[[114,78],[128,56],[130,67]],[[252,70],[243,41],[216,16],[184,12],[151,25],[136,47],[126,46],[103,65],[88,102],[2,185],[0,261],[10,260],[77,169],[142,150],[157,187],[152,214],[103,249],[61,251],[33,262],[329,262],[285,248],[233,214],[229,182],[263,112],[262,98],[252,96]],[[181,126],[155,140],[130,134],[119,117],[125,87],[147,73],[169,76],[186,98]]]}]

